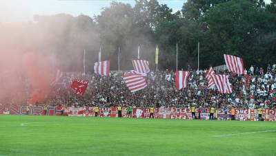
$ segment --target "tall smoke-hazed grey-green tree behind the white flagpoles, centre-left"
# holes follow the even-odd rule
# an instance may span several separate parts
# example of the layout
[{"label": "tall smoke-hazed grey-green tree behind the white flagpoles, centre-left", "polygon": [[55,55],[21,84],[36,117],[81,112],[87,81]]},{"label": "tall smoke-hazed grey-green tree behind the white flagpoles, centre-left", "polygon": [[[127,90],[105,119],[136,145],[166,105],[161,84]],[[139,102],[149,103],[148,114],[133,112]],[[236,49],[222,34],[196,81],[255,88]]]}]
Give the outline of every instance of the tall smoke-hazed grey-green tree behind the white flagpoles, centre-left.
[{"label": "tall smoke-hazed grey-green tree behind the white flagpoles, centre-left", "polygon": [[[129,4],[112,2],[99,16],[97,23],[101,36],[101,47],[106,59],[111,59],[110,67],[117,69],[118,47],[121,47],[122,69],[130,69],[131,61],[137,56],[141,45],[141,57],[154,59],[154,45],[151,30],[135,21],[135,12]],[[152,51],[150,51],[152,49]]]}]

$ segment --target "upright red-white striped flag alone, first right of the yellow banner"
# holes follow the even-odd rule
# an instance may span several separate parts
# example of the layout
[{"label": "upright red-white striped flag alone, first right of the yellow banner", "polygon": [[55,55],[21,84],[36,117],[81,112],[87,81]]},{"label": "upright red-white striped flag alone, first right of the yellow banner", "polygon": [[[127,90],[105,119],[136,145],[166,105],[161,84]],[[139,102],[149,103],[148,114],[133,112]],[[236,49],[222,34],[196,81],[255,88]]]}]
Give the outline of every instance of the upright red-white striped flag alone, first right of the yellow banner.
[{"label": "upright red-white striped flag alone, first right of the yellow banner", "polygon": [[175,87],[177,90],[187,87],[189,71],[177,71],[175,73]]}]

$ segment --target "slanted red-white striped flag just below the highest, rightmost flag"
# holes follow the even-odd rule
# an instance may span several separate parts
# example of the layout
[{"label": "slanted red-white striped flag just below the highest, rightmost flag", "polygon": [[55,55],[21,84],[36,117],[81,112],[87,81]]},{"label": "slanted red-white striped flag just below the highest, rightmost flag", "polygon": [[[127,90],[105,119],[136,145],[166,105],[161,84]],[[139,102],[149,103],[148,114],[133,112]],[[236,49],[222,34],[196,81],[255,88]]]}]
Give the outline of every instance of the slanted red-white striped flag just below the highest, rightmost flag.
[{"label": "slanted red-white striped flag just below the highest, rightmost flag", "polygon": [[210,75],[215,82],[219,93],[232,93],[231,84],[226,75]]}]

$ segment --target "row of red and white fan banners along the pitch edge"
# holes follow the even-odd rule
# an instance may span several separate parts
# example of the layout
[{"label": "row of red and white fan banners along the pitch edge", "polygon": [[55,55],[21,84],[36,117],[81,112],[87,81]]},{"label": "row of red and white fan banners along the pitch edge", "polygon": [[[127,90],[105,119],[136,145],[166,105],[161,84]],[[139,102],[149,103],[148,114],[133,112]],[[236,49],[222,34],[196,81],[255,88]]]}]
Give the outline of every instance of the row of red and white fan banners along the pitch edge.
[{"label": "row of red and white fan banners along the pitch edge", "polygon": [[[197,110],[196,110],[197,112]],[[46,113],[46,114],[45,114]],[[122,107],[122,117],[127,117],[126,107]],[[43,110],[43,107],[30,107],[30,111],[27,113],[26,107],[19,104],[0,104],[0,115],[61,115],[61,107],[48,107],[47,111]],[[63,115],[68,116],[95,116],[93,107],[64,107]],[[117,118],[118,111],[116,107],[99,108],[99,117]],[[192,113],[189,108],[155,108],[153,113],[154,118],[162,119],[179,119],[179,120],[192,120]],[[236,110],[235,120],[258,120],[257,109],[239,109]],[[199,118],[199,113],[196,113],[196,117]],[[201,109],[200,120],[209,120],[210,110]],[[150,118],[149,108],[133,108],[132,118]],[[225,112],[223,109],[217,109],[214,113],[214,118],[217,120],[231,120],[230,110]],[[262,118],[264,121],[275,121],[275,109],[262,110]]]}]

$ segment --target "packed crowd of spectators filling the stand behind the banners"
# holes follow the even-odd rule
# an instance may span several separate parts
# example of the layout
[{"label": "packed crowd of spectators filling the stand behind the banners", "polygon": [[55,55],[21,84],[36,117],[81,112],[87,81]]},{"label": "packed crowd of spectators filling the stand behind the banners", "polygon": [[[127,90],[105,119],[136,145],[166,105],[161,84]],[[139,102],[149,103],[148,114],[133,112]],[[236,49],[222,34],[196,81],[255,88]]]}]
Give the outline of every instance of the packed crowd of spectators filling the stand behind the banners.
[{"label": "packed crowd of spectators filling the stand behind the banners", "polygon": [[[276,65],[267,69],[251,66],[244,76],[228,70],[215,71],[226,74],[233,93],[221,94],[207,89],[206,70],[190,70],[188,87],[177,91],[174,71],[152,71],[148,74],[148,87],[131,93],[121,76],[126,72],[111,71],[110,76],[67,73],[52,89],[45,103],[65,106],[136,106],[136,107],[236,107],[239,109],[276,108]],[[75,96],[70,85],[73,79],[89,80],[83,96]]]}]

